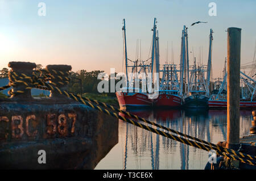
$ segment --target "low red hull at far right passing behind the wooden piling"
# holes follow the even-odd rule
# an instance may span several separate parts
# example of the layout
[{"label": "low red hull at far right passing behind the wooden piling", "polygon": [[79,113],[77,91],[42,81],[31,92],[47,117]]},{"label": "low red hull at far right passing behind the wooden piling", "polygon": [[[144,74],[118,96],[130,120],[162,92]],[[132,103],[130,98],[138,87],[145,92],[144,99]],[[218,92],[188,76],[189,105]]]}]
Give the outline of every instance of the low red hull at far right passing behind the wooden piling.
[{"label": "low red hull at far right passing behind the wooden piling", "polygon": [[[209,108],[226,108],[227,100],[209,100]],[[240,101],[240,108],[255,108],[255,101]]]}]

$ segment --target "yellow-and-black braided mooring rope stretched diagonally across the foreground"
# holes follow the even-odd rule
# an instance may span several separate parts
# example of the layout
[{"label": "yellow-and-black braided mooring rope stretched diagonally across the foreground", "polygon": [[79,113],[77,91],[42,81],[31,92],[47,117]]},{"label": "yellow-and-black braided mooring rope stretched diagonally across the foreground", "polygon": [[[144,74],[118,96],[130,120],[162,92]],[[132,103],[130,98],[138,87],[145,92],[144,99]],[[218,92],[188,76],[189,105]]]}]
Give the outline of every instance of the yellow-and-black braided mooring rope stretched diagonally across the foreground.
[{"label": "yellow-and-black braided mooring rope stretched diagonally across the foreground", "polygon": [[[44,74],[43,71],[41,73]],[[57,72],[56,72],[56,74],[57,74]],[[203,150],[209,151],[210,149],[213,149],[213,150],[216,150],[216,152],[219,155],[222,155],[224,157],[232,158],[232,159],[241,161],[243,163],[248,163],[250,165],[255,165],[255,162],[251,162],[250,160],[245,159],[245,158],[249,158],[249,159],[252,159],[254,161],[254,159],[253,159],[254,156],[243,154],[241,152],[238,152],[238,151],[235,151],[235,150],[231,150],[231,149],[226,149],[226,148],[223,148],[221,146],[211,144],[211,143],[209,143],[207,141],[200,140],[199,138],[195,138],[195,137],[189,136],[187,134],[183,134],[183,133],[174,131],[173,129],[163,127],[163,126],[158,125],[156,123],[152,123],[151,121],[148,121],[146,119],[138,117],[137,115],[133,115],[133,114],[131,114],[129,112],[119,110],[119,109],[114,108],[113,106],[110,106],[108,104],[98,102],[97,100],[91,100],[89,98],[85,98],[87,100],[84,100],[82,98],[82,96],[77,96],[77,95],[74,95],[74,94],[69,93],[67,91],[61,91],[59,88],[56,87],[56,84],[54,84],[53,82],[52,83],[43,82],[42,78],[36,77],[38,79],[36,81],[34,81],[33,80],[34,78],[28,77],[25,74],[22,74],[22,75],[23,75],[23,77],[19,76],[17,74],[14,74],[14,76],[12,76],[12,77],[13,77],[15,82],[13,82],[13,83],[16,83],[16,82],[23,83],[24,85],[28,86],[28,87],[26,87],[26,89],[32,89],[32,87],[35,87],[35,88],[38,88],[38,89],[58,91],[60,94],[67,95],[69,98],[75,99],[76,101],[81,102],[81,103],[83,103],[83,104],[85,104],[87,106],[90,106],[90,107],[92,107],[94,109],[97,109],[97,110],[99,110],[101,112],[107,113],[108,115],[117,117],[118,119],[124,120],[127,123],[131,123],[131,124],[134,124],[134,125],[136,125],[138,127],[143,128],[143,129],[147,129],[148,131],[160,134],[160,135],[168,137],[168,138],[172,138],[173,140],[176,140],[176,141],[179,141],[179,142],[183,142],[184,144],[191,145],[191,146],[194,146],[196,148],[203,149]],[[46,78],[46,76],[43,76],[43,77]],[[17,79],[17,78],[19,78],[19,79]],[[30,80],[30,83],[26,82],[27,79]],[[23,92],[24,91],[17,91],[17,92],[11,91],[10,94],[11,95],[16,95],[16,94],[22,94]],[[116,113],[113,113],[113,112],[109,112],[108,110],[105,110],[105,109],[101,108],[100,106],[96,106],[95,104],[92,104],[92,102],[94,102],[94,103],[96,103],[96,104],[98,104],[100,106],[111,108],[113,111],[118,111],[118,112],[124,113],[127,116],[133,117],[134,119],[137,119],[137,120],[144,121],[145,123],[154,125],[156,127],[159,127],[159,128],[162,128],[162,129],[166,129],[167,131],[174,132],[176,134],[180,134],[181,136],[184,136],[184,137],[191,138],[192,140],[195,140],[195,141],[191,141],[191,140],[187,140],[187,139],[184,139],[184,138],[181,138],[181,137],[178,137],[178,136],[174,136],[173,134],[169,134],[169,133],[160,131],[158,129],[154,129],[154,128],[148,127],[147,125],[143,125],[143,124],[134,122],[131,119],[126,119],[123,116],[117,115]],[[205,144],[208,144],[208,145],[205,145]],[[234,154],[234,155],[232,155],[232,154]],[[243,158],[240,158],[240,156],[243,157]]]}]

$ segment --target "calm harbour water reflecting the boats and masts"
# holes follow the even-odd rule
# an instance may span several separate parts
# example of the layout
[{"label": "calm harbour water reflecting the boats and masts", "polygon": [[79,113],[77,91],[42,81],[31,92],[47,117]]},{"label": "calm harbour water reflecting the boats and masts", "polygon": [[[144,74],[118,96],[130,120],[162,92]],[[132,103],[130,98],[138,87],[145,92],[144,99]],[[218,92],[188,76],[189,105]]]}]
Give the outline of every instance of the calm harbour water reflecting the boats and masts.
[{"label": "calm harbour water reflecting the boats and masts", "polygon": [[[130,111],[179,132],[217,144],[226,140],[226,110]],[[240,111],[240,136],[250,134],[251,111]],[[208,152],[119,120],[119,142],[95,169],[204,169]]]}]

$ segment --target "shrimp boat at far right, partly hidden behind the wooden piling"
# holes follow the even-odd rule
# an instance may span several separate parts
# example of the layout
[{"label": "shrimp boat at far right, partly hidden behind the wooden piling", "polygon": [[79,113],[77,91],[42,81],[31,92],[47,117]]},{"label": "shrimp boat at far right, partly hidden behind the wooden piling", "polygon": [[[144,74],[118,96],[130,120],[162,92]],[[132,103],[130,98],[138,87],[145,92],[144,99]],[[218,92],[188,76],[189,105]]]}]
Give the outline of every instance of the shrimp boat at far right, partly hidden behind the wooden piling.
[{"label": "shrimp boat at far right, partly hidden behind the wooden piling", "polygon": [[[227,73],[223,82],[218,90],[217,94],[212,94],[209,99],[209,108],[226,108],[227,107],[227,92],[226,92],[226,79]],[[256,81],[240,71],[241,79],[241,98],[240,98],[240,108],[255,108],[256,107]]]}]

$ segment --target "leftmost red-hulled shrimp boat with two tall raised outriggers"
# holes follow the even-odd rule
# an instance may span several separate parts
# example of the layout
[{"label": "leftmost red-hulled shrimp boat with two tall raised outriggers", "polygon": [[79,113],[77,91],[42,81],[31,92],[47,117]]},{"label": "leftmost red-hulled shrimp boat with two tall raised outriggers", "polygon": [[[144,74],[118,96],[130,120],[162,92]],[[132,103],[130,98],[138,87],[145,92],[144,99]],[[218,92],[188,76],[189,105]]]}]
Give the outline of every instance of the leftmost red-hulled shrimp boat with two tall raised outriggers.
[{"label": "leftmost red-hulled shrimp boat with two tall raised outriggers", "polygon": [[[153,39],[152,39],[152,57],[148,58],[146,61],[139,60],[137,53],[137,60],[131,61],[127,58],[127,49],[126,49],[126,28],[125,28],[125,19],[123,19],[123,42],[124,42],[124,53],[125,53],[125,65],[126,65],[126,83],[127,87],[123,87],[120,91],[115,92],[117,96],[119,106],[121,108],[147,108],[153,105],[153,99],[149,98],[149,94],[146,91],[146,85],[143,82],[146,82],[147,73],[149,73],[155,68],[153,65],[159,64],[158,54],[158,36],[156,36],[156,18],[154,19]],[[138,49],[138,43],[137,43]],[[137,51],[139,52],[139,50]],[[154,62],[154,58],[156,59]],[[151,63],[148,64],[147,61],[151,59]],[[128,62],[133,62],[133,65],[128,65]],[[128,76],[128,69],[131,68],[130,77]],[[151,71],[152,72],[152,71]],[[142,74],[142,81],[139,81],[139,76]],[[138,84],[137,84],[138,83]],[[134,87],[135,85],[142,85],[142,89],[139,87]]]}]

